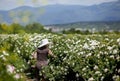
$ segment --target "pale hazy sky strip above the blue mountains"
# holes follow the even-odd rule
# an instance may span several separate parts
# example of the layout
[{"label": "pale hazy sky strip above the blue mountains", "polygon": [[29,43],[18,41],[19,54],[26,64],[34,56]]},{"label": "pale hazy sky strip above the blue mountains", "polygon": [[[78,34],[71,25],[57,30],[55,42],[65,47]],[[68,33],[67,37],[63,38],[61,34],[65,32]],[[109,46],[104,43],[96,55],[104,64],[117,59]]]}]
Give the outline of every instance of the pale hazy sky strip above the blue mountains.
[{"label": "pale hazy sky strip above the blue mountains", "polygon": [[95,5],[118,0],[0,0],[0,10],[9,10],[19,6],[39,7],[50,4]]}]

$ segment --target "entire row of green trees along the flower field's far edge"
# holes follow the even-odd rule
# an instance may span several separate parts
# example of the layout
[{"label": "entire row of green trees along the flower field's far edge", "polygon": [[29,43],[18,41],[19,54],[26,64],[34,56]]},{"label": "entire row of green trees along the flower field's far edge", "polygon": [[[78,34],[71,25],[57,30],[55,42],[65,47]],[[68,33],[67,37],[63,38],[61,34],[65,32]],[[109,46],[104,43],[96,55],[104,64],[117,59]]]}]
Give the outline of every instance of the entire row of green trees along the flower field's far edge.
[{"label": "entire row of green trees along the flower field's far edge", "polygon": [[[24,34],[24,33],[53,33],[51,29],[47,30],[44,28],[44,26],[40,23],[32,23],[27,24],[25,26],[20,25],[18,23],[12,23],[12,24],[0,24],[0,34]],[[59,33],[59,32],[54,32]],[[110,34],[110,33],[116,33],[120,34],[120,31],[97,31],[97,32],[91,32],[89,30],[76,30],[75,28],[70,28],[69,30],[62,30],[62,34]]]}]

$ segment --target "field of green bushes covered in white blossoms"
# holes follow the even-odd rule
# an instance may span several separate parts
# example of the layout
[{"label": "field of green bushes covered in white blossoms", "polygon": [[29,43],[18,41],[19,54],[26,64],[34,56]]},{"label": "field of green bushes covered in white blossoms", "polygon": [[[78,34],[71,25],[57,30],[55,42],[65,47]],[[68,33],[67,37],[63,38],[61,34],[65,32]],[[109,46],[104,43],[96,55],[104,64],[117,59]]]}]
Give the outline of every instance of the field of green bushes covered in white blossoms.
[{"label": "field of green bushes covered in white blossoms", "polygon": [[50,81],[120,81],[120,34],[1,34],[0,81],[31,81],[43,38],[57,56],[42,68]]}]

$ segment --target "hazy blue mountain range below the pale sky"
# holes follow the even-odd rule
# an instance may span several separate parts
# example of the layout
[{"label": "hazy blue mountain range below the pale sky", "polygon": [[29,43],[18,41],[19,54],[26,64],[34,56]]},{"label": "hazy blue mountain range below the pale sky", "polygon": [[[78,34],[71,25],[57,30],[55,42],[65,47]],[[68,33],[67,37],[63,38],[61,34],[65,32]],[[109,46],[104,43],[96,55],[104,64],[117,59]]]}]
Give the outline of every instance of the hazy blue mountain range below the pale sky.
[{"label": "hazy blue mountain range below the pale sky", "polygon": [[11,10],[0,10],[0,23],[43,25],[91,21],[120,21],[120,1],[99,5],[47,5],[41,7],[22,6]]}]

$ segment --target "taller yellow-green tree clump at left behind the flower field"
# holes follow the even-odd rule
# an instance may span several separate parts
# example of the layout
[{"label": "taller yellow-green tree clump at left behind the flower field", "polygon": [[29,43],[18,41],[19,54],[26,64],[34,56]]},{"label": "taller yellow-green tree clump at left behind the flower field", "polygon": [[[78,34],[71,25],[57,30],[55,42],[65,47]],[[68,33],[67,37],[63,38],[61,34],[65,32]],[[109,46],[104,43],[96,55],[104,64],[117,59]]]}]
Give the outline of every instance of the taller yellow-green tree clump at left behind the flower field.
[{"label": "taller yellow-green tree clump at left behind the flower field", "polygon": [[18,23],[0,24],[0,34],[49,33],[40,23],[20,25]]}]

